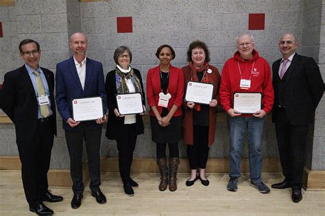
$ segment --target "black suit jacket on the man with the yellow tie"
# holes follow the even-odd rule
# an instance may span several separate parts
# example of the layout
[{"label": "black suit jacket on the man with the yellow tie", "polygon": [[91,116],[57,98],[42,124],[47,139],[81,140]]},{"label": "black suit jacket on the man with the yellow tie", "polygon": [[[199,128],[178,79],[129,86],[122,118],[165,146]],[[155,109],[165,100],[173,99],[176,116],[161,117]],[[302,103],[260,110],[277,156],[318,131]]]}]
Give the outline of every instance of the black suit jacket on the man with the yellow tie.
[{"label": "black suit jacket on the man with the yellow tie", "polygon": [[[41,68],[49,85],[51,110],[53,111],[53,135],[56,135],[56,104],[53,96],[54,75]],[[0,107],[14,122],[16,141],[30,141],[36,132],[38,104],[33,83],[25,65],[5,74],[0,92]]]}]

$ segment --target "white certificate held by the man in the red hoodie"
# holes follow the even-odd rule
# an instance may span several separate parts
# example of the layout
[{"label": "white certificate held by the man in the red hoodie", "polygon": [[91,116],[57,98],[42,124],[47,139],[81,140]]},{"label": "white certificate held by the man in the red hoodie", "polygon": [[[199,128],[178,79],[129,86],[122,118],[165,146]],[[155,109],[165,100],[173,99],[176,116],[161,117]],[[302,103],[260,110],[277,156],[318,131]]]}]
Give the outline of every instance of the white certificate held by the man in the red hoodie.
[{"label": "white certificate held by the man in the red hoodie", "polygon": [[262,108],[262,94],[244,92],[234,93],[234,110],[243,114],[252,114]]}]

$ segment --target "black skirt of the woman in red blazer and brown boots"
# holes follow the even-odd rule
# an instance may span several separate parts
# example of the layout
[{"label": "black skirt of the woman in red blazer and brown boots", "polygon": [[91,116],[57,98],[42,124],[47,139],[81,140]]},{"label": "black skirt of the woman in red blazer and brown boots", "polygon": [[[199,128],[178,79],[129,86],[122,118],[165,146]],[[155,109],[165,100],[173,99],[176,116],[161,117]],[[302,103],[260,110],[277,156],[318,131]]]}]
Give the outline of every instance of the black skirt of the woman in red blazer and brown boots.
[{"label": "black skirt of the woman in red blazer and brown boots", "polygon": [[155,116],[150,116],[152,141],[160,144],[176,144],[182,137],[182,116],[172,117],[169,126],[160,126]]}]

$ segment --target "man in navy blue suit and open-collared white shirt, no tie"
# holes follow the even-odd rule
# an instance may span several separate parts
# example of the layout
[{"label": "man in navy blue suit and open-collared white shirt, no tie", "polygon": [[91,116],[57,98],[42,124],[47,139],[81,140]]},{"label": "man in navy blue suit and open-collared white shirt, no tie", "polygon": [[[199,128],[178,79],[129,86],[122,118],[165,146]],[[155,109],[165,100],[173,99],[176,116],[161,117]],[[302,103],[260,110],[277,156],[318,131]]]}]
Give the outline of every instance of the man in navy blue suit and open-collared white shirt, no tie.
[{"label": "man in navy blue suit and open-collared white shirt, no tie", "polygon": [[82,183],[82,148],[86,141],[89,174],[91,176],[91,195],[99,204],[106,203],[106,197],[99,185],[100,180],[100,139],[101,125],[106,116],[97,120],[76,122],[72,115],[72,100],[100,96],[103,100],[104,113],[107,111],[103,66],[86,57],[88,40],[83,33],[74,33],[69,42],[73,56],[56,66],[56,103],[62,116],[63,129],[70,156],[71,178],[73,180],[72,208],[79,208],[83,198]]}]

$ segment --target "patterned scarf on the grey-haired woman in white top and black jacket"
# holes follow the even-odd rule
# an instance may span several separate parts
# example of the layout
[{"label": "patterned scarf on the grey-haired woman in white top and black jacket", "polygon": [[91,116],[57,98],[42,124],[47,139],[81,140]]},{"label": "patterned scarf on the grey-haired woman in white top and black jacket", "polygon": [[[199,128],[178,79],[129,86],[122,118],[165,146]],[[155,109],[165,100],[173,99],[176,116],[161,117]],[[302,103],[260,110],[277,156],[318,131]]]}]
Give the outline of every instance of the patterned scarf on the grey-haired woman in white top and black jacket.
[{"label": "patterned scarf on the grey-haired woman in white top and black jacket", "polygon": [[135,92],[141,93],[141,98],[143,99],[143,91],[141,88],[141,83],[138,77],[134,74],[133,69],[128,73],[121,72],[119,68],[115,68],[115,83],[117,85],[117,94],[129,93],[128,85],[125,79],[131,79]]}]

